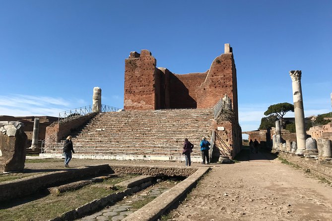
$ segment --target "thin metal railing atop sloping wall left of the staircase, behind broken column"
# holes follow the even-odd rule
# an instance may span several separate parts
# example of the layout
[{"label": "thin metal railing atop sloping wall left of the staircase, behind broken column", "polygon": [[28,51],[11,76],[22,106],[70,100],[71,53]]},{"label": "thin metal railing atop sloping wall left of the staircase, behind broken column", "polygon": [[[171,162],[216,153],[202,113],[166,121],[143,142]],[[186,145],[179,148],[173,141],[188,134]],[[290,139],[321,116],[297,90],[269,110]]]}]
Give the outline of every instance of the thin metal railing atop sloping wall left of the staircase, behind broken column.
[{"label": "thin metal railing atop sloping wall left of the staircase, behind broken column", "polygon": [[[101,108],[100,108],[99,112],[114,112],[114,111],[118,111],[118,110],[120,110],[120,108],[115,108],[115,107],[108,106],[108,105],[101,105]],[[92,110],[92,105],[62,111],[62,112],[59,113],[59,122],[66,119],[66,118],[71,118],[71,117],[74,118],[74,117],[78,117],[78,116],[84,116],[84,115],[92,113],[92,112],[94,112]]]}]

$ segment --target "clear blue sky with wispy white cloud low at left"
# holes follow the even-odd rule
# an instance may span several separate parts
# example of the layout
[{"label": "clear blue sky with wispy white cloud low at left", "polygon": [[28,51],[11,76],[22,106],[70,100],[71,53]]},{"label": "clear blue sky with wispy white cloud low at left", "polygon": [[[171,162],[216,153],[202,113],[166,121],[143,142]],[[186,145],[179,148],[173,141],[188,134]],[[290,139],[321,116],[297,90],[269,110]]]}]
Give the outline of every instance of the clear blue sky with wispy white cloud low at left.
[{"label": "clear blue sky with wispy white cloud low at left", "polygon": [[[233,47],[240,125],[293,103],[332,110],[331,0],[0,0],[0,115],[51,115],[92,104],[123,108],[124,61],[149,50],[173,73],[204,72]],[[287,114],[293,116],[293,113]]]}]

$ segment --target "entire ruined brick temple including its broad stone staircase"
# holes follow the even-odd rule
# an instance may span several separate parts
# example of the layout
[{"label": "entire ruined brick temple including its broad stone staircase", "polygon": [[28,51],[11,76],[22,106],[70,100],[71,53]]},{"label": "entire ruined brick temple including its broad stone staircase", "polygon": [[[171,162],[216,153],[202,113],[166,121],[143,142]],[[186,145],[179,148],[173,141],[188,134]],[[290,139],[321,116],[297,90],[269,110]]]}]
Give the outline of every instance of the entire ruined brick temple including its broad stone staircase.
[{"label": "entire ruined brick temple including its broad stone staircase", "polygon": [[200,162],[199,142],[206,136],[212,161],[233,159],[242,136],[230,45],[204,73],[175,74],[156,65],[148,50],[131,52],[125,60],[124,111],[53,123],[42,155],[61,156],[61,142],[70,134],[74,158],[183,161],[188,138],[195,145],[192,161]]}]

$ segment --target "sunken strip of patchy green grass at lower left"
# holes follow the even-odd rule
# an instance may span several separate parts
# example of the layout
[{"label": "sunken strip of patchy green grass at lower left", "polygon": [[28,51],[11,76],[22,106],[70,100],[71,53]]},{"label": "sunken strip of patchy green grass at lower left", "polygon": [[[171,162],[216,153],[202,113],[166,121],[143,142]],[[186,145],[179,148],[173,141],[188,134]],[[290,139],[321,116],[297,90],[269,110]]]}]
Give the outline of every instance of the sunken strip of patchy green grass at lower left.
[{"label": "sunken strip of patchy green grass at lower left", "polygon": [[[123,177],[111,178],[98,184],[116,184],[124,180],[132,178],[133,175],[124,175]],[[19,203],[8,209],[0,209],[1,221],[45,221],[55,218],[67,211],[76,209],[94,199],[105,197],[109,194],[122,191],[106,190],[104,188],[90,184],[78,190],[67,191],[57,196],[47,195],[45,197],[29,201],[27,198],[19,200],[27,200],[27,203]],[[16,202],[16,203],[17,203]],[[15,202],[10,202],[14,203]]]}]

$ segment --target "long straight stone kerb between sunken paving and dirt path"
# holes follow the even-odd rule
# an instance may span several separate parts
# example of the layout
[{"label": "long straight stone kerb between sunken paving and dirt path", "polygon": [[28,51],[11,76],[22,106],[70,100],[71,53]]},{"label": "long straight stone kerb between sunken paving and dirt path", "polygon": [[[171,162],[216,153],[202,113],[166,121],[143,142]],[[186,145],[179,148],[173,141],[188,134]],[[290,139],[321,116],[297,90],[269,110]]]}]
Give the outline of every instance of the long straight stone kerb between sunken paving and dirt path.
[{"label": "long straight stone kerb between sunken paving and dirt path", "polygon": [[173,205],[187,194],[198,182],[198,180],[210,169],[210,167],[201,167],[191,176],[176,186],[162,193],[156,199],[146,204],[133,214],[122,221],[154,221],[161,217]]}]

